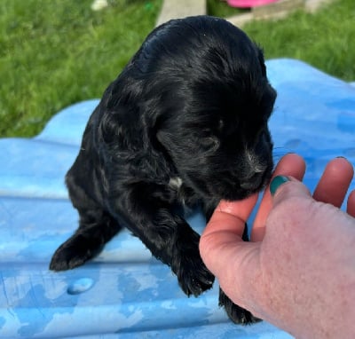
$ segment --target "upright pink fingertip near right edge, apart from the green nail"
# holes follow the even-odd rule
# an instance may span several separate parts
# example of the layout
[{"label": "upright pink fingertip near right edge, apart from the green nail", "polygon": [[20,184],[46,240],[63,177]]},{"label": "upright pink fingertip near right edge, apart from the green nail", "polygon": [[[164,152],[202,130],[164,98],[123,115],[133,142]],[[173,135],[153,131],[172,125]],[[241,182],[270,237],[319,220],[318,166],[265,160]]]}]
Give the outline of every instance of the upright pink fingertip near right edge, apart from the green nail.
[{"label": "upright pink fingertip near right edge, apart from the green nail", "polygon": [[314,190],[313,198],[340,208],[353,175],[352,165],[345,158],[336,158],[328,162]]}]

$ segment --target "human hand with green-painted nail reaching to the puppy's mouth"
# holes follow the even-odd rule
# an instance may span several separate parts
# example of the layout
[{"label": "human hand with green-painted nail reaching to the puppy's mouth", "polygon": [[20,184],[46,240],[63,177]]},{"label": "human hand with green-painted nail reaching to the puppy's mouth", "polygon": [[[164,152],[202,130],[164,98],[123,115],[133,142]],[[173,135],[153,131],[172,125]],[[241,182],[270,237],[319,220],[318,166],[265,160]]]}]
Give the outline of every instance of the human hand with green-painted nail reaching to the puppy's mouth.
[{"label": "human hand with green-painted nail reaching to the puppy's mouth", "polygon": [[304,169],[296,154],[280,160],[274,177],[290,181],[273,198],[265,190],[250,242],[241,235],[257,195],[222,201],[201,236],[201,257],[225,294],[256,317],[297,337],[353,337],[355,193],[347,213],[338,209],[353,169],[343,158],[329,162],[313,197],[296,180]]}]

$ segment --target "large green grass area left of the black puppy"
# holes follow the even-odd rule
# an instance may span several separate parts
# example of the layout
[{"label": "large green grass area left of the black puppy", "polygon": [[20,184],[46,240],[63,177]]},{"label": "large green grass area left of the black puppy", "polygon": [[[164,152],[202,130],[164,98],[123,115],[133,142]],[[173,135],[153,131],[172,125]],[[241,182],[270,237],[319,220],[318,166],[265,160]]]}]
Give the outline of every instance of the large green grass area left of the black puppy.
[{"label": "large green grass area left of the black puppy", "polygon": [[0,136],[33,136],[52,114],[99,98],[154,28],[162,0],[0,3]]}]

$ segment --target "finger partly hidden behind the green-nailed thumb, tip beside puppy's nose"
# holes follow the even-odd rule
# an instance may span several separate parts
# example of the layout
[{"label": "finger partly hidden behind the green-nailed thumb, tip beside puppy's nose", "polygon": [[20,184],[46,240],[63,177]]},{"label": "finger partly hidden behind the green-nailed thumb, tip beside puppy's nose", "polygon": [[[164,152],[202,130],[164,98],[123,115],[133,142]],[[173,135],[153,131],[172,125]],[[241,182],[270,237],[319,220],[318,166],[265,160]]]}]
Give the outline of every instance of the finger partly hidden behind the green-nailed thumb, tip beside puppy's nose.
[{"label": "finger partly hidden behind the green-nailed thumb, tip beside puppy's nose", "polygon": [[[280,162],[277,164],[272,177],[283,175],[296,177],[296,179],[302,180],[304,172],[304,159],[297,154],[286,154],[280,159]],[[264,239],[266,218],[269,215],[270,209],[272,209],[272,196],[268,186],[264,191],[263,199],[260,202],[260,207],[256,213],[250,237],[251,241],[260,241]]]}]

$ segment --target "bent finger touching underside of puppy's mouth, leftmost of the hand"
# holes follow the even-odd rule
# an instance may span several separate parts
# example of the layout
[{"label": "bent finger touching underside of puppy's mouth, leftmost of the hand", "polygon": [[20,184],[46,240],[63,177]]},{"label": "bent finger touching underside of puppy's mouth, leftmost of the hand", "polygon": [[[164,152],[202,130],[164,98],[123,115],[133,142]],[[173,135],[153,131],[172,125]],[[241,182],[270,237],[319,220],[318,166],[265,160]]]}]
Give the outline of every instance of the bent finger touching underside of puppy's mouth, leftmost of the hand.
[{"label": "bent finger touching underside of puppy's mouth, leftmost of the hand", "polygon": [[221,201],[200,239],[200,253],[209,270],[218,276],[242,242],[245,222],[257,201],[257,194],[242,201]]}]

